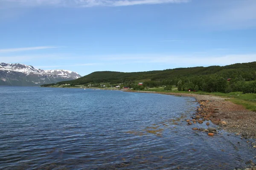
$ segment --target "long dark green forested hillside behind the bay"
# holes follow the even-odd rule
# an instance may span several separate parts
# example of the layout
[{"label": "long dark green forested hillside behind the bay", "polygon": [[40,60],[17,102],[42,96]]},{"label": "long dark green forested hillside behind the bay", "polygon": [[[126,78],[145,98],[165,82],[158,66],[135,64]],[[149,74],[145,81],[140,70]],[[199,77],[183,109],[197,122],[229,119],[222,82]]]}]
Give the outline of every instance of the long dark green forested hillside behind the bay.
[{"label": "long dark green forested hillside behind the bay", "polygon": [[[140,80],[144,80],[143,86],[135,83]],[[154,87],[171,89],[171,86],[176,86],[179,91],[190,89],[191,91],[206,92],[242,91],[243,93],[256,93],[256,62],[132,73],[97,71],[76,80],[58,82],[53,85],[87,86],[90,84],[100,87],[104,83],[113,86],[121,84],[138,90]]]}]

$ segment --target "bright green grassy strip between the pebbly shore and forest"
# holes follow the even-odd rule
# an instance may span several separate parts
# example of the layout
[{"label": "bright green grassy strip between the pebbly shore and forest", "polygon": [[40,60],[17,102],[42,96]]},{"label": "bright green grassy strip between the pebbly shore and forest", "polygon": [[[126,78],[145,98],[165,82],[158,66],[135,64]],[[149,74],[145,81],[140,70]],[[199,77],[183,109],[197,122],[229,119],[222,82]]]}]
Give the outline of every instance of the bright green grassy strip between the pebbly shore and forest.
[{"label": "bright green grassy strip between the pebbly shore and forest", "polygon": [[204,94],[204,95],[213,95],[213,96],[221,96],[226,97],[227,101],[233,102],[238,105],[243,105],[244,108],[255,111],[256,112],[256,94],[243,94],[242,92],[231,92],[231,93],[207,93],[203,91],[197,92],[189,92],[189,91],[164,91],[163,88],[148,88],[144,89],[143,91],[156,91],[156,92],[172,92],[172,93],[191,93],[191,94]]}]

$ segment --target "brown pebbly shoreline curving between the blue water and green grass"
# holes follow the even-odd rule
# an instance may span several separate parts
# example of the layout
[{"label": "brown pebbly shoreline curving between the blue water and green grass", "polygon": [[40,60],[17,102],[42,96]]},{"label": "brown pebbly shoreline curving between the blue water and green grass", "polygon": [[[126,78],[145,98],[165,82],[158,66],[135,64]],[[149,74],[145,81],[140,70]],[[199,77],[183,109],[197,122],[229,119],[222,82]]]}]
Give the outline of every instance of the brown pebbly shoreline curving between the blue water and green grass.
[{"label": "brown pebbly shoreline curving between the blue water and green grass", "polygon": [[[202,94],[184,94],[172,92],[153,92],[153,91],[127,91],[138,93],[166,94],[173,96],[194,97],[199,107],[195,111],[192,118],[200,116],[198,121],[207,123],[211,121],[223,130],[241,136],[241,139],[256,139],[256,113],[245,109],[242,105],[236,105],[230,101],[226,101],[223,97],[202,95]],[[201,120],[200,120],[201,119]],[[193,119],[194,120],[194,119]],[[201,122],[203,121],[203,122]],[[256,148],[256,141],[251,143]]]}]

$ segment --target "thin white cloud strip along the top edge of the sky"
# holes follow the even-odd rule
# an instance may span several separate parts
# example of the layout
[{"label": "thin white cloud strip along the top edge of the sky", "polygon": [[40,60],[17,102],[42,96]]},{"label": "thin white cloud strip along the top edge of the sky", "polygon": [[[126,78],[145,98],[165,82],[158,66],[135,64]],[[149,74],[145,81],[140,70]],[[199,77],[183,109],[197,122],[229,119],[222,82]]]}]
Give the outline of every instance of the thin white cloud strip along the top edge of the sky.
[{"label": "thin white cloud strip along the top edge of the sky", "polygon": [[[2,0],[3,5],[17,6],[133,6],[162,3],[186,3],[189,0]],[[1,4],[1,1],[0,1]]]}]

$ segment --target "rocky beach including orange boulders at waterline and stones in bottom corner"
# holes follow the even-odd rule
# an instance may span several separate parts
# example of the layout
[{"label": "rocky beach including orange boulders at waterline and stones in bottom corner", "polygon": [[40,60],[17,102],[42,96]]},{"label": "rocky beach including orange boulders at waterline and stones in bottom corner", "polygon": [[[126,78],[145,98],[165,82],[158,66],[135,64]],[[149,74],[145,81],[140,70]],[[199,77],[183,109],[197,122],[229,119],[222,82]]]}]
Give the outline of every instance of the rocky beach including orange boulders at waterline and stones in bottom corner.
[{"label": "rocky beach including orange boulders at waterline and stones in bottom corner", "polygon": [[[130,91],[131,92],[131,91]],[[134,92],[134,91],[133,91]],[[151,92],[151,91],[136,91],[140,93],[156,93],[174,96],[194,97],[199,106],[191,119],[187,119],[187,125],[199,124],[198,127],[193,127],[192,130],[203,131],[209,136],[214,136],[218,130],[225,130],[235,136],[241,138],[241,142],[246,142],[248,147],[253,147],[256,153],[256,113],[245,109],[241,105],[236,105],[227,98],[201,94],[185,94],[171,92]],[[217,128],[210,127],[210,123],[215,124]],[[206,124],[208,128],[200,127],[200,124]],[[243,168],[236,170],[256,170],[256,154],[254,160],[245,162]]]}]

